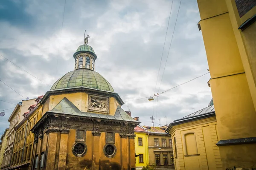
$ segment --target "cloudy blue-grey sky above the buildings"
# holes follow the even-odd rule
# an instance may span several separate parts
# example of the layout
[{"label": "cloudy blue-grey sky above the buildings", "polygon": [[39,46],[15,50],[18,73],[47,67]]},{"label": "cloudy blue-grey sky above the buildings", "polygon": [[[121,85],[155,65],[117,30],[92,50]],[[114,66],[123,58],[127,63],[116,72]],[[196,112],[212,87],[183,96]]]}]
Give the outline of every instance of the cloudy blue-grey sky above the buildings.
[{"label": "cloudy blue-grey sky above the buildings", "polygon": [[[165,116],[170,123],[208,105],[212,98],[209,74],[161,94],[158,101],[140,99],[207,73],[196,0],[182,0],[178,17],[180,0],[173,0],[173,6],[172,0],[66,0],[65,11],[64,4],[65,0],[0,2],[0,54],[42,81],[0,56],[0,80],[19,94],[30,99],[45,94],[57,79],[72,71],[73,53],[83,43],[86,29],[89,45],[98,56],[95,71],[111,83],[126,101],[122,108],[129,106],[142,125],[152,125],[152,115],[163,125]],[[24,99],[3,82],[1,100],[16,104]],[[6,102],[0,101],[0,110],[15,107]],[[12,111],[0,117],[0,135],[9,127]]]}]

